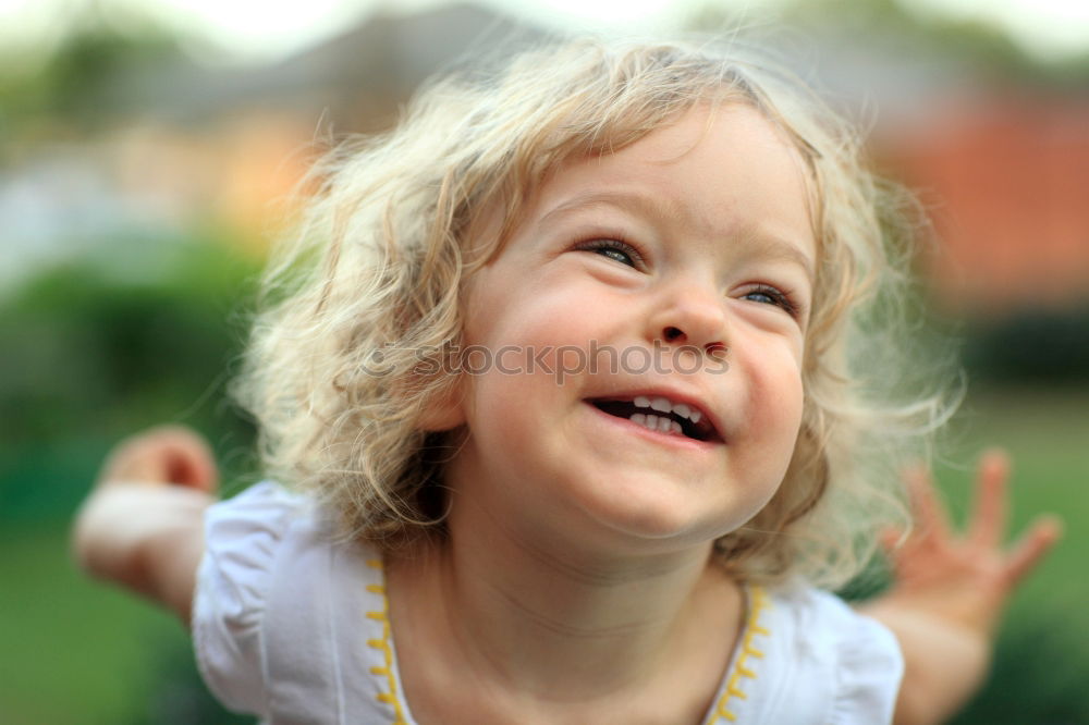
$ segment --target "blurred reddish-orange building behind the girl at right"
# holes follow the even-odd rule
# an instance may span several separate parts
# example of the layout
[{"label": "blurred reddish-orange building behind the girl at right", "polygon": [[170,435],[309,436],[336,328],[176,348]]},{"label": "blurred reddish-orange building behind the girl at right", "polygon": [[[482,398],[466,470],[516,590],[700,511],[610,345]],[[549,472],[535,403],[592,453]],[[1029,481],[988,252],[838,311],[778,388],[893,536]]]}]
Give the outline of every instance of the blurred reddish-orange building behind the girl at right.
[{"label": "blurred reddish-orange building behind the girl at right", "polygon": [[946,304],[993,316],[1089,302],[1089,94],[950,102],[889,152],[934,220]]}]

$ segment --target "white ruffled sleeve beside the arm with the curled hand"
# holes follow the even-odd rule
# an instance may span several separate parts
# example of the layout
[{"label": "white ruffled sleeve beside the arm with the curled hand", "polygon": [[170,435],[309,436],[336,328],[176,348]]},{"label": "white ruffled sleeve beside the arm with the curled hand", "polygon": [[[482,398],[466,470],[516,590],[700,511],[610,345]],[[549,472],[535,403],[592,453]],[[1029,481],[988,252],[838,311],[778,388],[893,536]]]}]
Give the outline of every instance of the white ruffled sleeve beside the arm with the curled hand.
[{"label": "white ruffled sleeve beside the arm with the curled hand", "polygon": [[262,624],[280,544],[303,501],[259,483],[206,514],[194,648],[205,683],[235,711],[268,715]]}]

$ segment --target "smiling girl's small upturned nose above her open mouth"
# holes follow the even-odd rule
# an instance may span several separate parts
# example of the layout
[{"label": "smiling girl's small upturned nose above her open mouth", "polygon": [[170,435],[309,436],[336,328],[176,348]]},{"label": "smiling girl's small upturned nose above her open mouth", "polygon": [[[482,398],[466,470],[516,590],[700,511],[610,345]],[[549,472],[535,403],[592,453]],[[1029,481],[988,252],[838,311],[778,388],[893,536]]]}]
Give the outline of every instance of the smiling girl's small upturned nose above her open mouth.
[{"label": "smiling girl's small upturned nose above her open mouth", "polygon": [[729,325],[723,295],[693,284],[677,284],[657,304],[648,322],[651,342],[692,345],[707,353],[725,351]]}]

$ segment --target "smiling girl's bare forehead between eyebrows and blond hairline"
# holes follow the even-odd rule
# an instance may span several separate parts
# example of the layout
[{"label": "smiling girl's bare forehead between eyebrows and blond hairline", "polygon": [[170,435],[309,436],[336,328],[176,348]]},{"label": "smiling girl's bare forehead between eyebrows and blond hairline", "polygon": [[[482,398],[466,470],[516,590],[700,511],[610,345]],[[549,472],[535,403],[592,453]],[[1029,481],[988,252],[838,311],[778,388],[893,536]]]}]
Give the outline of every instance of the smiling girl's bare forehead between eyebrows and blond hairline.
[{"label": "smiling girl's bare forehead between eyebrows and blond hairline", "polygon": [[756,231],[816,253],[807,163],[748,105],[696,108],[615,152],[568,160],[533,196],[530,223],[611,206],[684,222],[686,233]]}]

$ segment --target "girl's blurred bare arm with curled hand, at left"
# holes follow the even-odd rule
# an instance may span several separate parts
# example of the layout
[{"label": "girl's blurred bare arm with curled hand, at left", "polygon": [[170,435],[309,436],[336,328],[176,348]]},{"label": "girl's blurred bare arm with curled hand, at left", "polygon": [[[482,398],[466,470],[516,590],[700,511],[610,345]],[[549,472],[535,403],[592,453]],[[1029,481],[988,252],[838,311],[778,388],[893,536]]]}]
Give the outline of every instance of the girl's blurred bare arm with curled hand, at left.
[{"label": "girl's blurred bare arm with curled hand, at left", "polygon": [[122,442],[76,516],[76,560],[93,576],[169,607],[188,626],[204,513],[217,487],[211,452],[188,429],[154,428]]}]

